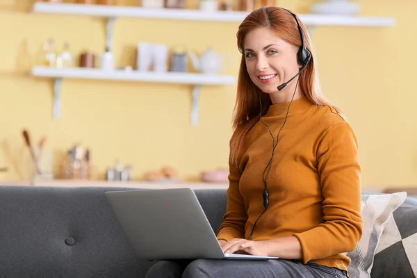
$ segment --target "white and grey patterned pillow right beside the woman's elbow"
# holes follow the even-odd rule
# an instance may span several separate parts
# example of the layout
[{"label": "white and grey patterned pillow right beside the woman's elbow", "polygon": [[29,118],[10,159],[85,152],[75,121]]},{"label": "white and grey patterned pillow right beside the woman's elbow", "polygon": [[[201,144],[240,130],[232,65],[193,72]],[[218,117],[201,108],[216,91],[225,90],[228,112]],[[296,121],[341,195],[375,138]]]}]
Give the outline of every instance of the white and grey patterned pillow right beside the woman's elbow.
[{"label": "white and grey patterned pillow right beside the woman's elbow", "polygon": [[370,278],[375,250],[386,222],[388,222],[393,211],[401,206],[406,198],[407,193],[405,192],[362,195],[363,234],[355,250],[347,253],[347,256],[351,259],[351,263],[347,267],[350,278]]}]

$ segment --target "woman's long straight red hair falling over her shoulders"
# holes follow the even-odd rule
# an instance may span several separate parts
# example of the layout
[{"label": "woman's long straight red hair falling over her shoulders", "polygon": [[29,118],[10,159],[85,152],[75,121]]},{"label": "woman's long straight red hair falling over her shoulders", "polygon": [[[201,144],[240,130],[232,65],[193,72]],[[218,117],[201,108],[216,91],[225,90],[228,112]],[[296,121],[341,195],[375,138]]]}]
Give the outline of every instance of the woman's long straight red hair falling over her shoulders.
[{"label": "woman's long straight red hair falling over her shoulders", "polygon": [[[299,76],[300,90],[317,106],[334,107],[322,95],[309,33],[301,20],[298,17],[297,19],[304,33],[306,49],[309,49],[312,54],[309,65],[306,66],[304,72]],[[243,51],[245,36],[250,31],[259,27],[270,28],[279,38],[289,44],[293,44],[295,47],[301,47],[302,45],[300,31],[298,30],[294,16],[283,8],[273,6],[259,8],[247,15],[245,20],[240,24],[236,36],[238,50],[242,54],[242,57],[240,60],[236,104],[233,115],[234,133],[230,140],[230,159],[235,165],[238,163],[238,156],[243,147],[243,140],[246,134],[259,121],[260,112],[261,115],[265,115],[269,106],[272,104],[269,95],[263,93],[250,79],[245,63],[245,54]],[[259,103],[259,97],[262,102],[262,111],[260,111],[261,104]],[[343,115],[342,111],[338,108],[334,107],[334,109]]]}]

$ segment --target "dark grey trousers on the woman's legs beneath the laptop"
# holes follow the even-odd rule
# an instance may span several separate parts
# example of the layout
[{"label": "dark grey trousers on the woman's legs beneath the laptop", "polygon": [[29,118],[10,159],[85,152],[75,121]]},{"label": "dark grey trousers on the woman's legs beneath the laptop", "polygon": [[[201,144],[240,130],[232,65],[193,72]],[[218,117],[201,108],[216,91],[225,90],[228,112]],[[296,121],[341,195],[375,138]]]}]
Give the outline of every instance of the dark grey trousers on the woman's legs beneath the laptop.
[{"label": "dark grey trousers on the woman's legs beneath the laptop", "polygon": [[293,260],[244,261],[197,259],[159,261],[146,278],[345,278],[346,272],[316,263]]}]

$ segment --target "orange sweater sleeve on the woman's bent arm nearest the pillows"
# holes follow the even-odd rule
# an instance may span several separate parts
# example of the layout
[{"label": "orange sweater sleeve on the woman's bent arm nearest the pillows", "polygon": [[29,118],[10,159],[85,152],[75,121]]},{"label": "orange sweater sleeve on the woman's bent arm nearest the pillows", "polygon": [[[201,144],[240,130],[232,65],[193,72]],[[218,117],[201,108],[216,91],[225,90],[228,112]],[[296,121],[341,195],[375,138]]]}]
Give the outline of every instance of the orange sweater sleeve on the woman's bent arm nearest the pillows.
[{"label": "orange sweater sleeve on the woman's bent arm nearest the pillows", "polygon": [[347,122],[339,122],[325,131],[318,145],[317,160],[323,223],[294,234],[300,240],[304,263],[351,252],[363,231],[357,138]]}]

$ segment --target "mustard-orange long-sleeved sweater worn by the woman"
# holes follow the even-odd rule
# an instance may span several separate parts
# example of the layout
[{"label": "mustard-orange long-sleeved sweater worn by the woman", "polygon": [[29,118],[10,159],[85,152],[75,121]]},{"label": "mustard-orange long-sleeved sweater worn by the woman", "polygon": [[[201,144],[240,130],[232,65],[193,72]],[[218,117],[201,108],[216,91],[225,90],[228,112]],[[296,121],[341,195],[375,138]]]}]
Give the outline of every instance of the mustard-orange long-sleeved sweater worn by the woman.
[{"label": "mustard-orange long-sleeved sweater worn by the woman", "polygon": [[[289,103],[273,104],[263,121],[277,133]],[[238,167],[229,163],[227,212],[218,239],[247,238],[263,207],[262,174],[272,138],[260,121],[245,138]],[[268,210],[251,240],[296,236],[302,261],[341,270],[362,235],[357,138],[333,108],[306,97],[291,104],[268,176]]]}]

